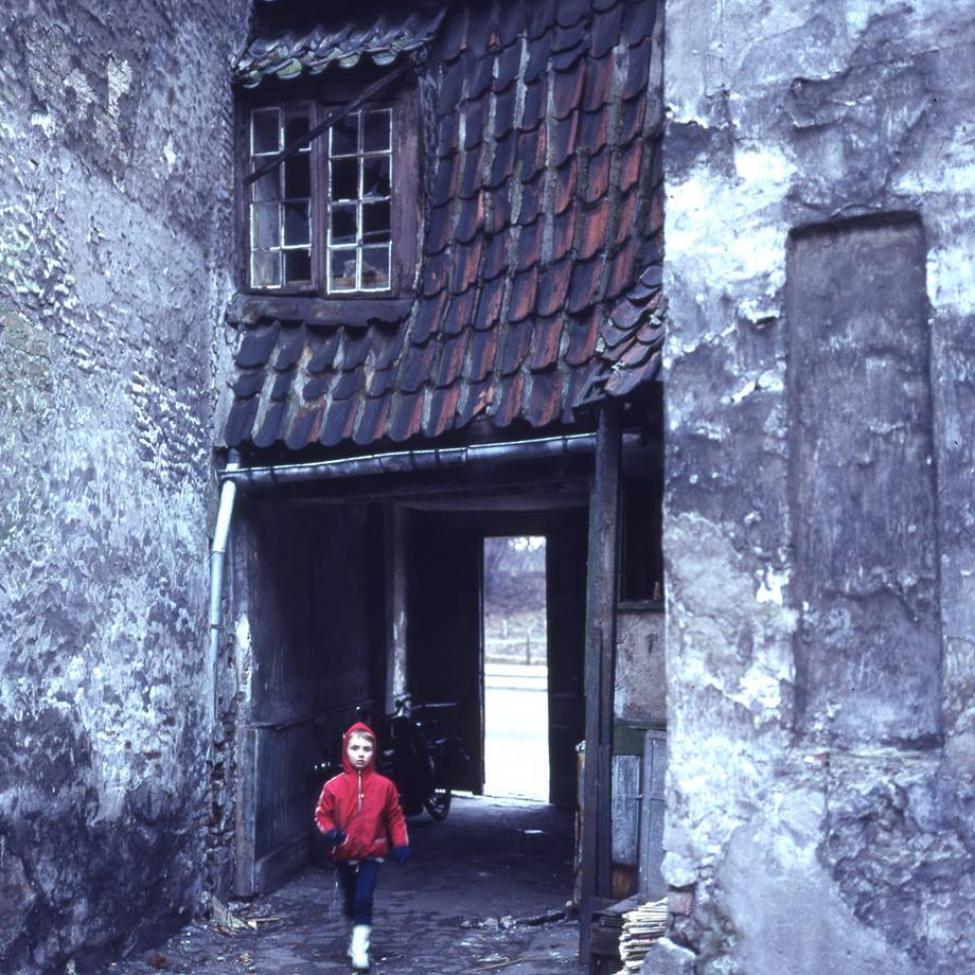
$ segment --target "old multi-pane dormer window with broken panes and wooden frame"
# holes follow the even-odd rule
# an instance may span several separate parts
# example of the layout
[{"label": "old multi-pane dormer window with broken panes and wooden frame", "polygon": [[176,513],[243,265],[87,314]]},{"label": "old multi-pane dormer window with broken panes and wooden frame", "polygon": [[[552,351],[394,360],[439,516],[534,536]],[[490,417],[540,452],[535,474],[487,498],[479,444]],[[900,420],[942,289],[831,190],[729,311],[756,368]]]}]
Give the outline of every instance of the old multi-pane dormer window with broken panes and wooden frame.
[{"label": "old multi-pane dormer window with broken panes and wooden frame", "polygon": [[410,93],[344,111],[316,135],[337,111],[341,103],[317,99],[247,110],[246,174],[260,174],[244,186],[243,271],[252,293],[382,298],[412,284],[417,135]]}]

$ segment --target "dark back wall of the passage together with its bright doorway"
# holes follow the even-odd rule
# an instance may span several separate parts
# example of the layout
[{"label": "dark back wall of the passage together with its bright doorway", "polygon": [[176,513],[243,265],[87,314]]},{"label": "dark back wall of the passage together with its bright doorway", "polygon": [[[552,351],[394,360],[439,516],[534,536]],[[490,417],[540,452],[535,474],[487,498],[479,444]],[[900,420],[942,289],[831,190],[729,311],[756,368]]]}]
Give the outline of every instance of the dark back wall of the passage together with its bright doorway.
[{"label": "dark back wall of the passage together with its bright doorway", "polygon": [[[423,701],[455,705],[442,712],[443,733],[457,736],[471,757],[457,789],[514,796],[525,795],[523,790],[529,788],[528,794],[541,801],[574,808],[577,747],[585,737],[585,508],[424,509],[411,511],[408,525],[407,683]],[[509,613],[505,607],[497,612],[489,609],[486,540],[490,544],[497,540],[508,546],[509,554],[523,557],[526,571],[521,573],[521,585],[537,593],[534,606],[524,615]],[[514,575],[517,585],[519,573]],[[490,622],[486,611],[494,618],[508,616],[507,638],[503,622]],[[486,645],[488,638],[494,649]],[[498,659],[498,644],[505,642],[510,664]],[[526,655],[531,661],[527,665]],[[499,686],[502,680],[507,687]],[[524,689],[516,691],[515,681]],[[486,695],[494,697],[496,690],[506,693],[500,701],[495,698],[492,707]],[[522,706],[529,700],[536,730],[534,751],[525,750],[525,729],[518,727],[523,717],[528,720]],[[512,707],[517,713],[511,712]],[[494,717],[506,726],[497,734],[486,726]],[[498,763],[512,766],[508,771],[520,779],[514,787],[489,785],[488,748],[496,756],[495,767]]]}]

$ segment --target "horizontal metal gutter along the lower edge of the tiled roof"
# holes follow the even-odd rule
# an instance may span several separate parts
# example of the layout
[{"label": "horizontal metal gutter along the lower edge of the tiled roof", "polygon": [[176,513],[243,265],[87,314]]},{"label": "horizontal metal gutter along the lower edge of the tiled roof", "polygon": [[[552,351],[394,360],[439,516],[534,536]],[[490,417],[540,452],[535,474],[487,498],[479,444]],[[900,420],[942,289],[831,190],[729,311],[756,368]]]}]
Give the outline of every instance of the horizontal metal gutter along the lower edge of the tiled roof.
[{"label": "horizontal metal gutter along the lower edge of the tiled roof", "polygon": [[[626,441],[639,439],[626,437]],[[305,464],[280,464],[267,467],[227,465],[221,472],[226,487],[229,482],[269,486],[296,481],[319,481],[338,477],[369,474],[406,473],[487,461],[541,460],[568,454],[588,453],[596,443],[594,433],[573,433],[561,437],[515,440],[502,443],[474,444],[469,447],[442,447],[429,450],[401,450],[363,457],[340,457],[335,460],[311,461]]]}]

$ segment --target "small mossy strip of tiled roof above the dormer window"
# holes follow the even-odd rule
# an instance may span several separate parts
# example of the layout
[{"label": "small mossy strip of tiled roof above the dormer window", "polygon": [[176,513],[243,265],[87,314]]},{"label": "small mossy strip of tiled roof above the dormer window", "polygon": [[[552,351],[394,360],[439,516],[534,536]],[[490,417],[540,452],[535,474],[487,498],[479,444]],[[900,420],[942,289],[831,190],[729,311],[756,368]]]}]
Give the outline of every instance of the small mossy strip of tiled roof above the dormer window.
[{"label": "small mossy strip of tiled roof above the dormer window", "polygon": [[248,46],[235,67],[237,80],[246,88],[265,78],[297,78],[321,74],[331,65],[353,68],[363,58],[374,64],[392,64],[401,54],[423,47],[436,33],[443,11],[381,15],[367,24],[346,23],[335,29],[285,31],[275,37],[258,37]]}]

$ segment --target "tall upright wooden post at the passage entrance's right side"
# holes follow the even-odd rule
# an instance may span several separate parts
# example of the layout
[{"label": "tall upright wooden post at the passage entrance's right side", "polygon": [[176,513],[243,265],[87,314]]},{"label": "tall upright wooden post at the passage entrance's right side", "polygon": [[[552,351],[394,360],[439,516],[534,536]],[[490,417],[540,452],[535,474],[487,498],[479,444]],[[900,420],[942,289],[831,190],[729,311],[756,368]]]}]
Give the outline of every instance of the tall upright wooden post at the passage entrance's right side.
[{"label": "tall upright wooden post at the passage entrance's right side", "polygon": [[580,957],[589,965],[593,912],[612,895],[612,749],[619,545],[620,416],[599,414],[589,502],[586,588],[586,760],[583,777]]}]

